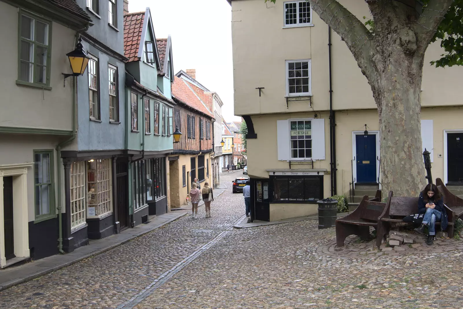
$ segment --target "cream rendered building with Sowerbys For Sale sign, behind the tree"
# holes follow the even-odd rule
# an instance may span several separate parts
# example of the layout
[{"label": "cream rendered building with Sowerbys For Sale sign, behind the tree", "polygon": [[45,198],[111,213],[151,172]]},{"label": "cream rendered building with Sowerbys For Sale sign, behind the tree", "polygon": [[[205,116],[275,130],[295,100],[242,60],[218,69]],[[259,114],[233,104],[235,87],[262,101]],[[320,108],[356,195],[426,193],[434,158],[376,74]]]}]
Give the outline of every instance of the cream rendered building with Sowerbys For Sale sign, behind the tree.
[{"label": "cream rendered building with Sowerbys For Sale sign, behind the tree", "polygon": [[[352,182],[356,195],[381,187],[376,105],[346,44],[333,31],[329,35],[305,0],[228,2],[234,106],[248,126],[253,219],[315,214],[316,200],[349,196]],[[369,16],[364,1],[339,2],[361,20]],[[431,152],[433,178],[458,185],[463,183],[463,68],[432,67],[429,62],[442,53],[433,43],[425,55],[423,150]]]}]

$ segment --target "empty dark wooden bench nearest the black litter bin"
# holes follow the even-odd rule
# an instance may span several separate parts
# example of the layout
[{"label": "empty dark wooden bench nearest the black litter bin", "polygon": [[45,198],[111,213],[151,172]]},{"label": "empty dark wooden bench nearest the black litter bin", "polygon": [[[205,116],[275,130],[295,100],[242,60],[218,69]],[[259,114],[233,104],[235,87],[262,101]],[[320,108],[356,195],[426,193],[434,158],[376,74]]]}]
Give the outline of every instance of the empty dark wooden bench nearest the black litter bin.
[{"label": "empty dark wooden bench nearest the black litter bin", "polygon": [[[381,190],[377,190],[375,198],[371,200],[365,195],[356,210],[336,220],[337,246],[344,246],[344,241],[349,235],[357,235],[362,240],[368,240],[370,226],[377,229],[378,217],[381,216],[386,207],[387,203],[381,203]],[[381,241],[379,245],[381,245]]]}]

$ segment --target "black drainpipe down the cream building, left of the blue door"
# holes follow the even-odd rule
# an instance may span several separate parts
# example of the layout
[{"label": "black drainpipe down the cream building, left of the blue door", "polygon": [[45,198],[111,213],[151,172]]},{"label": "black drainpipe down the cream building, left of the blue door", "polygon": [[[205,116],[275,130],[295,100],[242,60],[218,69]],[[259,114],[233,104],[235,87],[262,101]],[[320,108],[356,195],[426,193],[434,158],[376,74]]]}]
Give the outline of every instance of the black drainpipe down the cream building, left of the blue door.
[{"label": "black drainpipe down the cream building, left of the blue door", "polygon": [[336,121],[333,111],[333,89],[332,89],[332,67],[331,67],[331,27],[328,26],[328,63],[330,70],[330,173],[331,173],[331,195],[336,195]]}]

